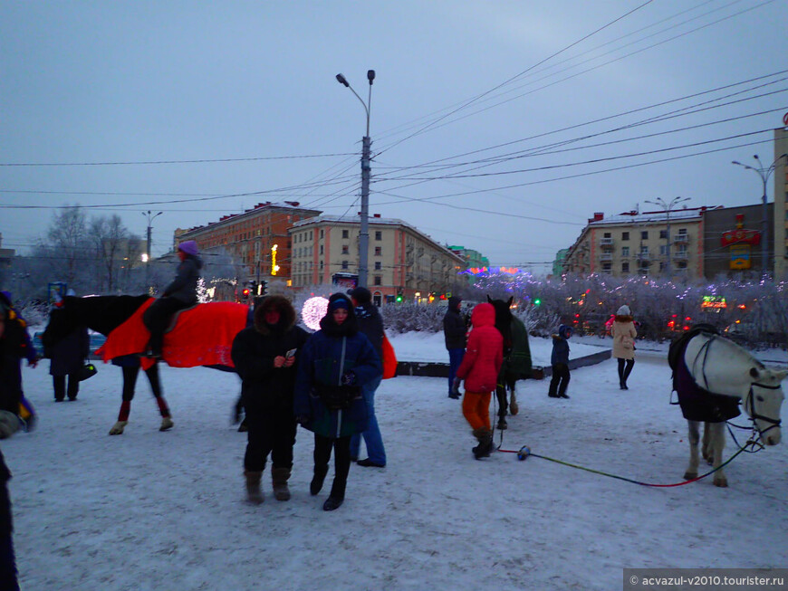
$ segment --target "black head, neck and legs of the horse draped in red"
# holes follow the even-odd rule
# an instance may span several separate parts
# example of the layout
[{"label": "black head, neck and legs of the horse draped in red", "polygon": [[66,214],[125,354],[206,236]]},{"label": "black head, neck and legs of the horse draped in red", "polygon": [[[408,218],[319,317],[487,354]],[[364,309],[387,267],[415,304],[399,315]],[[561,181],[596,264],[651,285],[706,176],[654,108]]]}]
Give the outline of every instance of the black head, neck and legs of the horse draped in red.
[{"label": "black head, neck and legs of the horse draped in red", "polygon": [[[140,296],[98,296],[91,298],[76,298],[66,296],[59,307],[50,314],[49,324],[43,331],[42,341],[49,346],[65,337],[79,326],[87,326],[91,330],[101,332],[108,336],[113,329],[118,328],[130,318],[139,307],[150,299],[148,295]],[[134,398],[134,387],[137,385],[140,362],[138,356],[127,355],[112,359],[112,364],[120,366],[123,370],[123,401],[120,405],[118,422],[110,429],[111,435],[120,435],[129,422],[131,400]],[[145,370],[150,389],[156,398],[161,413],[159,431],[167,431],[173,426],[172,415],[169,412],[167,401],[161,391],[159,380],[159,364],[154,363]]]}]

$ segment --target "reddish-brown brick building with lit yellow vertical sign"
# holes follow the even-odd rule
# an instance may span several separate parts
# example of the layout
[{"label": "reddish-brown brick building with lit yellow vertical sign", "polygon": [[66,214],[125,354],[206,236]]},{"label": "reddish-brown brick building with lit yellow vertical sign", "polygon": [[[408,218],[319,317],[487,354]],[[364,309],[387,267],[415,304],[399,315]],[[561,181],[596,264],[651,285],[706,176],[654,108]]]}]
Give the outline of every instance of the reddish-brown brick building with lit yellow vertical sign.
[{"label": "reddish-brown brick building with lit yellow vertical sign", "polygon": [[299,207],[297,201],[275,204],[259,203],[243,214],[222,216],[218,222],[175,231],[175,243],[194,240],[200,252],[224,250],[243,262],[246,277],[243,281],[259,277],[291,275],[291,243],[288,234],[291,226],[305,218],[321,214],[315,209]]}]

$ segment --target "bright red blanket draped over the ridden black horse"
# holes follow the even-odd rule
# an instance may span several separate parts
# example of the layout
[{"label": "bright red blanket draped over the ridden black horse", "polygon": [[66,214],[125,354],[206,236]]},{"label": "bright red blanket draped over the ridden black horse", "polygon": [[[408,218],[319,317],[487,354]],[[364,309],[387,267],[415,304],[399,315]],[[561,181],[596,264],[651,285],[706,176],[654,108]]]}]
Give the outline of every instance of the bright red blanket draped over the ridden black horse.
[{"label": "bright red blanket draped over the ridden black horse", "polygon": [[[107,337],[107,342],[96,351],[104,363],[114,357],[135,355],[145,350],[150,333],[142,324],[142,314],[153,303],[146,301]],[[175,328],[164,335],[162,360],[171,367],[227,366],[235,367],[230,357],[233,339],[246,326],[249,308],[230,301],[198,304],[178,315]],[[143,369],[155,359],[141,357]]]}]

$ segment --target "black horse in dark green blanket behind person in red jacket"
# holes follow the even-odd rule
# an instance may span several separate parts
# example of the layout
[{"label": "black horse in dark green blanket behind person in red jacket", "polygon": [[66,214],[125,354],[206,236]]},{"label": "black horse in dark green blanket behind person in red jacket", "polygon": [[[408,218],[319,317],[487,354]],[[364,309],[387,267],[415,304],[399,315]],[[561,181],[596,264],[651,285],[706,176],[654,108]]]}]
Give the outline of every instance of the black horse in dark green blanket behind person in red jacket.
[{"label": "black horse in dark green blanket behind person in red jacket", "polygon": [[[519,412],[515,394],[515,382],[518,379],[531,377],[531,348],[528,345],[528,331],[521,319],[512,314],[512,302],[509,300],[493,300],[487,296],[487,301],[495,308],[495,328],[504,337],[504,363],[498,374],[498,383],[495,386],[495,396],[498,400],[498,429],[505,429],[506,415],[511,408],[512,415]],[[506,392],[510,393],[511,403],[507,400]]]}]

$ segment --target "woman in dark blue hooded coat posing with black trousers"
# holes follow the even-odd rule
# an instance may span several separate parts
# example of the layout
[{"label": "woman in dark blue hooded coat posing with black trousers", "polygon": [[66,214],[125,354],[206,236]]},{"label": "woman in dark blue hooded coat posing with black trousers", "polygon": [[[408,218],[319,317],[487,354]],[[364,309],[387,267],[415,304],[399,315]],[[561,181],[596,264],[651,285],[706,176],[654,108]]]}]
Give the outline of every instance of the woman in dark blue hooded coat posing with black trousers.
[{"label": "woman in dark blue hooded coat posing with black trousers", "polygon": [[380,357],[361,333],[344,293],[329,298],[328,310],[300,354],[295,383],[295,416],[314,433],[312,495],[322,489],[334,451],[334,481],[323,510],[340,507],[351,469],[351,436],[367,426],[361,387],[380,376]]}]

